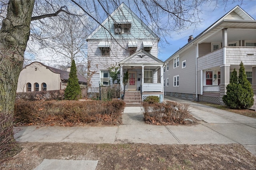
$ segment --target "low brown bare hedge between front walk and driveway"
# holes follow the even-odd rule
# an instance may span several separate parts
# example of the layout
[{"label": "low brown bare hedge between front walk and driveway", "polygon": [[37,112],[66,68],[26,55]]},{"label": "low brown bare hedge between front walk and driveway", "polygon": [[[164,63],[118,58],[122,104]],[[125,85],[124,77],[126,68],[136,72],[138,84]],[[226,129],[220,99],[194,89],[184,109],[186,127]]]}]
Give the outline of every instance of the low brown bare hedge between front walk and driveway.
[{"label": "low brown bare hedge between front walk and driveway", "polygon": [[185,124],[184,119],[190,116],[188,104],[180,104],[172,101],[166,101],[165,103],[143,102],[143,107],[144,119],[148,124]]}]

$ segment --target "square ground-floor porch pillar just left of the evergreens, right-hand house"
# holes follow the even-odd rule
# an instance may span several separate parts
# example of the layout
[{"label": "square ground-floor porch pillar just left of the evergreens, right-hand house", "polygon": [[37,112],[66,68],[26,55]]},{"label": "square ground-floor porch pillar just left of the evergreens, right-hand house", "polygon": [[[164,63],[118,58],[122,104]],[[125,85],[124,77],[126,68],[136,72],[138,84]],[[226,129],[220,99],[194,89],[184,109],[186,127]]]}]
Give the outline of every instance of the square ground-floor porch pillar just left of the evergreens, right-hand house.
[{"label": "square ground-floor porch pillar just left of the evergreens, right-hand house", "polygon": [[222,97],[226,95],[226,86],[229,84],[230,79],[230,65],[220,66],[220,104],[224,105]]}]

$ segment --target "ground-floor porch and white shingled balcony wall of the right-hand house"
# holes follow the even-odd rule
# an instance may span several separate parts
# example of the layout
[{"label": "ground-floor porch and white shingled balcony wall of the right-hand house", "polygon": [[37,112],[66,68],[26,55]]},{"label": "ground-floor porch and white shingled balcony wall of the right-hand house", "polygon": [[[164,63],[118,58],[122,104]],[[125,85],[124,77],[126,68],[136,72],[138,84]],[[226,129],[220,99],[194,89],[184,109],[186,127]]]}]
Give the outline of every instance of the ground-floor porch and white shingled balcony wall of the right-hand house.
[{"label": "ground-floor porch and white shingled balcony wall of the right-hand house", "polygon": [[[226,94],[226,86],[230,83],[230,75],[234,69],[239,73],[239,64],[244,63],[248,81],[256,95],[256,61],[255,47],[224,47],[198,58],[198,63],[213,59],[218,61],[210,65],[199,67],[200,101],[224,104],[222,97]],[[249,54],[249,55],[248,55]],[[226,59],[224,59],[224,57]],[[225,61],[226,60],[226,61]]]}]

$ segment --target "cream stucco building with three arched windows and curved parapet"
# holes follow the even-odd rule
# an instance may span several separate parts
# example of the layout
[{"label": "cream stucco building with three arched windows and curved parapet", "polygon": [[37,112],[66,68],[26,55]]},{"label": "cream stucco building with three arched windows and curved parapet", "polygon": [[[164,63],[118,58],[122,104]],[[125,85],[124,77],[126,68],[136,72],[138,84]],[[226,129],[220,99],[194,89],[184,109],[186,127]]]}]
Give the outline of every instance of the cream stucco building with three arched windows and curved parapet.
[{"label": "cream stucco building with three arched windows and curved parapet", "polygon": [[[40,62],[30,63],[20,72],[17,92],[65,89],[69,73],[68,71],[46,66]],[[80,85],[87,85],[86,78],[79,74],[78,82]]]}]

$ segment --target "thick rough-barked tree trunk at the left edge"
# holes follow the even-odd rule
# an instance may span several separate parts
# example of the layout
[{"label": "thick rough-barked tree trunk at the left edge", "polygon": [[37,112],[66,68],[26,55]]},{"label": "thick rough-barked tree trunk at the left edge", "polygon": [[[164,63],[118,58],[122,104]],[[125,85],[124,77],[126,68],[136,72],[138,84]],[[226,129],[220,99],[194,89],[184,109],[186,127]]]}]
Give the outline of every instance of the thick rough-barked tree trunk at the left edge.
[{"label": "thick rough-barked tree trunk at the left edge", "polygon": [[[18,77],[24,61],[24,51],[30,35],[34,0],[10,0],[7,16],[0,30],[0,112],[9,117],[1,131],[12,127]],[[15,142],[10,133],[10,146]],[[2,145],[3,139],[1,139]],[[15,150],[15,148],[10,148]],[[2,148],[1,148],[2,150]]]}]

